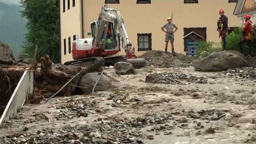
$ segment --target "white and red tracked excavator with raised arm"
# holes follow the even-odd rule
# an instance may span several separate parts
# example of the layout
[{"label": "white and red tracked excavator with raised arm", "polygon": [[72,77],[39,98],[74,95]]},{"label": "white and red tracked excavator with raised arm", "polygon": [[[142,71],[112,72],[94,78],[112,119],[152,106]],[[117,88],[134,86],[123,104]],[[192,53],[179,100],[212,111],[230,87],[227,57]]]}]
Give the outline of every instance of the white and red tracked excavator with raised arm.
[{"label": "white and red tracked excavator with raised arm", "polygon": [[[64,65],[82,67],[93,65],[95,70],[103,65],[113,66],[119,61],[131,63],[134,68],[141,68],[146,65],[144,58],[137,58],[135,55],[119,9],[104,5],[98,19],[91,23],[90,30],[91,38],[79,39],[76,35],[76,39],[72,42],[73,60],[65,62]],[[126,55],[113,56],[121,51],[120,39]]]}]

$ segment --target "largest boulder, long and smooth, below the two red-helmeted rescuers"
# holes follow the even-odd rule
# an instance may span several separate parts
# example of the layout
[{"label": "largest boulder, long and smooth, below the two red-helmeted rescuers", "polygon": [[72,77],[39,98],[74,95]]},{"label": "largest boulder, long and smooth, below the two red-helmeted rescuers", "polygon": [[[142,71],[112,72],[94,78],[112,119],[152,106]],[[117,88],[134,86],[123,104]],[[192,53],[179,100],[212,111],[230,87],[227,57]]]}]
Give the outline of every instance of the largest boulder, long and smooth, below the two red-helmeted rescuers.
[{"label": "largest boulder, long and smooth, below the two red-helmeted rescuers", "polygon": [[233,68],[255,67],[256,61],[235,50],[214,52],[202,59],[193,60],[196,71],[224,71]]}]

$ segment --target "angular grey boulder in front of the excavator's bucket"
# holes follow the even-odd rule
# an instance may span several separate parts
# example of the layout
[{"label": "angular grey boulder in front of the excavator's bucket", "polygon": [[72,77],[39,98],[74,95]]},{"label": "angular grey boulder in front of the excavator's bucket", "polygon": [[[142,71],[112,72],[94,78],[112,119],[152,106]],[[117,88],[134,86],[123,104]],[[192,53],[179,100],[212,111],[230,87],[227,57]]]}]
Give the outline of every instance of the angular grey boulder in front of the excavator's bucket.
[{"label": "angular grey boulder in front of the excavator's bucket", "polygon": [[125,74],[134,74],[135,70],[131,63],[126,62],[117,62],[114,64],[115,73],[118,75],[125,75]]}]

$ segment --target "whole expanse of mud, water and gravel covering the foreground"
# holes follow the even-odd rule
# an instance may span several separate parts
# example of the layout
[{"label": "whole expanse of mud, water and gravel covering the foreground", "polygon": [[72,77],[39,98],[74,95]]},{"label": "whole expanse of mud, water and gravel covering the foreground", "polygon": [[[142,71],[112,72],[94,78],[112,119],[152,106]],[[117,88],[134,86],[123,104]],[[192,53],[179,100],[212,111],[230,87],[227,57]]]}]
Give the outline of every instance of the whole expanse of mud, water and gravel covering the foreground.
[{"label": "whole expanse of mud, water and gravel covering the foreground", "polygon": [[[240,72],[227,76],[228,71],[193,67],[137,69],[135,75],[104,72],[120,82],[118,88],[26,105],[1,127],[0,143],[256,142],[253,75],[238,78]],[[146,82],[148,75],[174,79],[173,74],[189,84]]]}]

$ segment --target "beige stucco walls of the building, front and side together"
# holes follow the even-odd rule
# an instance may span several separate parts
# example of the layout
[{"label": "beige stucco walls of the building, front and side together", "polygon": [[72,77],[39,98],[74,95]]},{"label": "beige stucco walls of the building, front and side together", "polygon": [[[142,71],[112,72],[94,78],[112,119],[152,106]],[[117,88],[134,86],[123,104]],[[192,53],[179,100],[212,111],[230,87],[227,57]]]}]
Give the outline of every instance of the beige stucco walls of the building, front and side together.
[{"label": "beige stucco walls of the building, front and side together", "polygon": [[[77,1],[77,0],[76,0]],[[221,42],[217,32],[217,19],[220,17],[219,9],[225,10],[225,15],[228,17],[228,26],[239,26],[239,19],[233,15],[236,3],[229,3],[229,0],[198,0],[198,3],[184,4],[184,0],[151,0],[151,4],[137,4],[136,0],[119,0],[119,4],[105,4],[105,0],[83,0],[83,28],[84,38],[89,38],[90,23],[98,19],[102,6],[108,5],[110,8],[120,9],[120,13],[125,22],[126,32],[129,41],[135,47],[136,55],[142,55],[145,51],[137,51],[137,34],[151,33],[152,34],[152,50],[164,50],[165,48],[165,33],[161,27],[167,23],[167,17],[172,16],[173,23],[178,27],[174,34],[174,48],[178,53],[184,52],[184,28],[206,27],[206,39],[209,41]],[[67,5],[66,5],[67,7]],[[72,8],[71,8],[72,11]],[[62,11],[61,11],[62,12]],[[75,12],[74,12],[75,13]],[[76,12],[78,13],[78,12]],[[72,36],[78,33],[79,28],[71,25],[70,19],[74,18],[73,14],[62,14],[62,33],[64,36]],[[65,22],[63,20],[65,19]],[[77,19],[77,17],[76,17]],[[74,21],[74,20],[73,20]],[[76,20],[79,25],[78,21]],[[72,22],[73,23],[73,22]],[[72,29],[73,28],[73,29]],[[65,29],[65,30],[64,30]],[[75,30],[74,30],[75,29]],[[73,32],[73,33],[72,33]],[[79,36],[81,38],[81,36]],[[61,39],[63,43],[63,38]],[[63,45],[63,44],[62,44]],[[122,46],[121,46],[122,47]],[[72,55],[63,55],[64,61],[72,60]],[[171,51],[171,45],[168,45],[168,51]],[[121,48],[120,55],[125,54]]]}]

